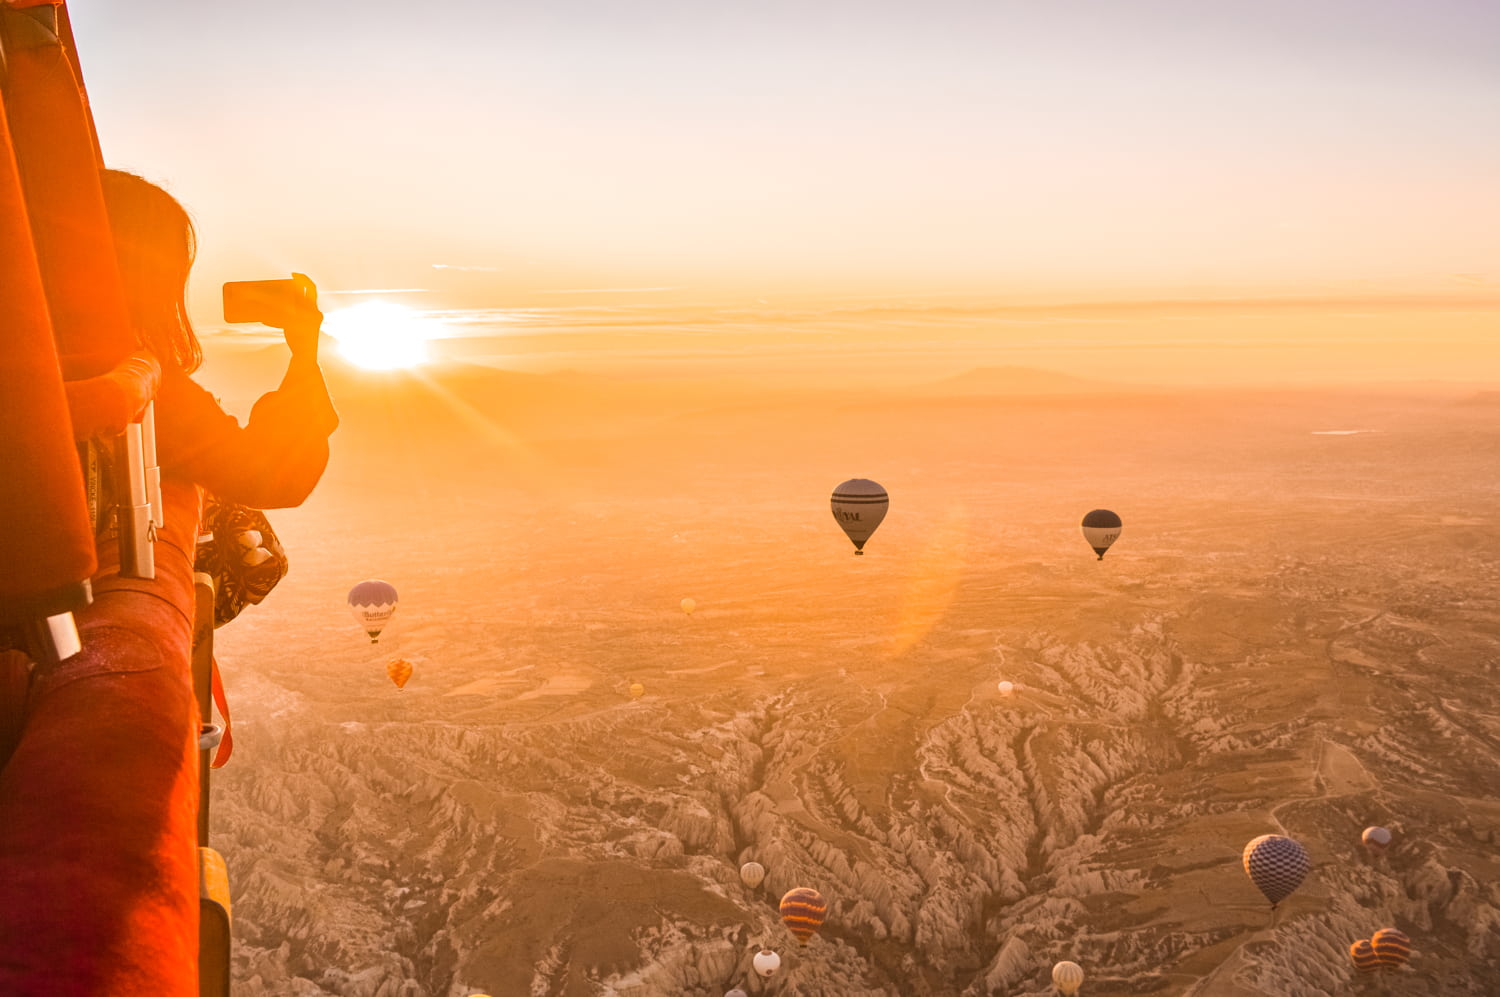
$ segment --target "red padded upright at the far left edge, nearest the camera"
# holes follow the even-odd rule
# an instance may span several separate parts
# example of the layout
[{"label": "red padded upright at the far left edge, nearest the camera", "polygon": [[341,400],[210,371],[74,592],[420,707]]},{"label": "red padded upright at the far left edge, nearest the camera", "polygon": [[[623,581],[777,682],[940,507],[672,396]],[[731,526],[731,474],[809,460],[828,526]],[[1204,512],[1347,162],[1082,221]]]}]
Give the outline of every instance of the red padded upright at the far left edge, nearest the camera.
[{"label": "red padded upright at the far left edge, nearest the camera", "polygon": [[8,603],[87,579],[94,549],[3,105],[0,307],[0,603]]}]

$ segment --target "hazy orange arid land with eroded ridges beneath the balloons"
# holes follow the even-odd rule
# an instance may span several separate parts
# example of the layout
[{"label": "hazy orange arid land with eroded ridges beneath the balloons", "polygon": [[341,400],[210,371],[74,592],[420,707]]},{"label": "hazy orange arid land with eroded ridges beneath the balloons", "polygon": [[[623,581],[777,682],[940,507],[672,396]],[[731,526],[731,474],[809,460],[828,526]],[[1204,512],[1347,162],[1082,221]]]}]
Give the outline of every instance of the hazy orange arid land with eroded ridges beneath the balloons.
[{"label": "hazy orange arid land with eroded ridges beneath the balloons", "polygon": [[[327,480],[272,514],[291,574],[218,642],[242,997],[1040,996],[1058,960],[1086,996],[1376,994],[1347,948],[1383,927],[1386,993],[1500,993],[1500,402],[334,391]],[[852,477],[891,495],[862,558]],[[1269,832],[1312,859],[1275,921]]]}]

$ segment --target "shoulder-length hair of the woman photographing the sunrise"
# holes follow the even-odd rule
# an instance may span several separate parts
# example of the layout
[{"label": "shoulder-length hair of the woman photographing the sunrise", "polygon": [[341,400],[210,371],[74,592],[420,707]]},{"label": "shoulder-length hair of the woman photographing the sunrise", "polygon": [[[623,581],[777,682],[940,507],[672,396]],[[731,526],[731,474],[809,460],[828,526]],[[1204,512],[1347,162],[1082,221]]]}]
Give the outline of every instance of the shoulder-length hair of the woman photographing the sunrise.
[{"label": "shoulder-length hair of the woman photographing the sunrise", "polygon": [[99,175],[130,325],[141,345],[192,373],[202,346],[188,319],[188,271],[198,252],[192,219],[172,195],[122,169]]}]

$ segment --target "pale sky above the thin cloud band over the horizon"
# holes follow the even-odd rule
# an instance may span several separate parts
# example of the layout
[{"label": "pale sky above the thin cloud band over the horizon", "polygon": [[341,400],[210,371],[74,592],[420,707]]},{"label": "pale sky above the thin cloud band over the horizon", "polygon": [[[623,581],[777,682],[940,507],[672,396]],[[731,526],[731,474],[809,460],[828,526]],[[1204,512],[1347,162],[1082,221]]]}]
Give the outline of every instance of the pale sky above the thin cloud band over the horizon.
[{"label": "pale sky above the thin cloud band over the horizon", "polygon": [[1294,297],[1458,376],[1500,318],[1484,0],[69,9],[206,321],[291,270],[458,310]]}]

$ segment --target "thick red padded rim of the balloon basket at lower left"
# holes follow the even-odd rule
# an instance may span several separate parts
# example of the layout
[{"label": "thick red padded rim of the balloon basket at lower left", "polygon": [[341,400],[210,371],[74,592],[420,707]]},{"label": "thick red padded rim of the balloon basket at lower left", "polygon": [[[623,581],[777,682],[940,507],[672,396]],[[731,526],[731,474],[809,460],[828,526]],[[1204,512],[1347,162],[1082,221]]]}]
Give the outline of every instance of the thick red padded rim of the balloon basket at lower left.
[{"label": "thick red padded rim of the balloon basket at lower left", "polygon": [[174,604],[198,498],[186,481],[162,493],[177,540],[156,544],[160,577],[112,588],[106,565],[78,613],[82,652],[33,679],[0,769],[8,997],[198,993],[198,702]]}]

